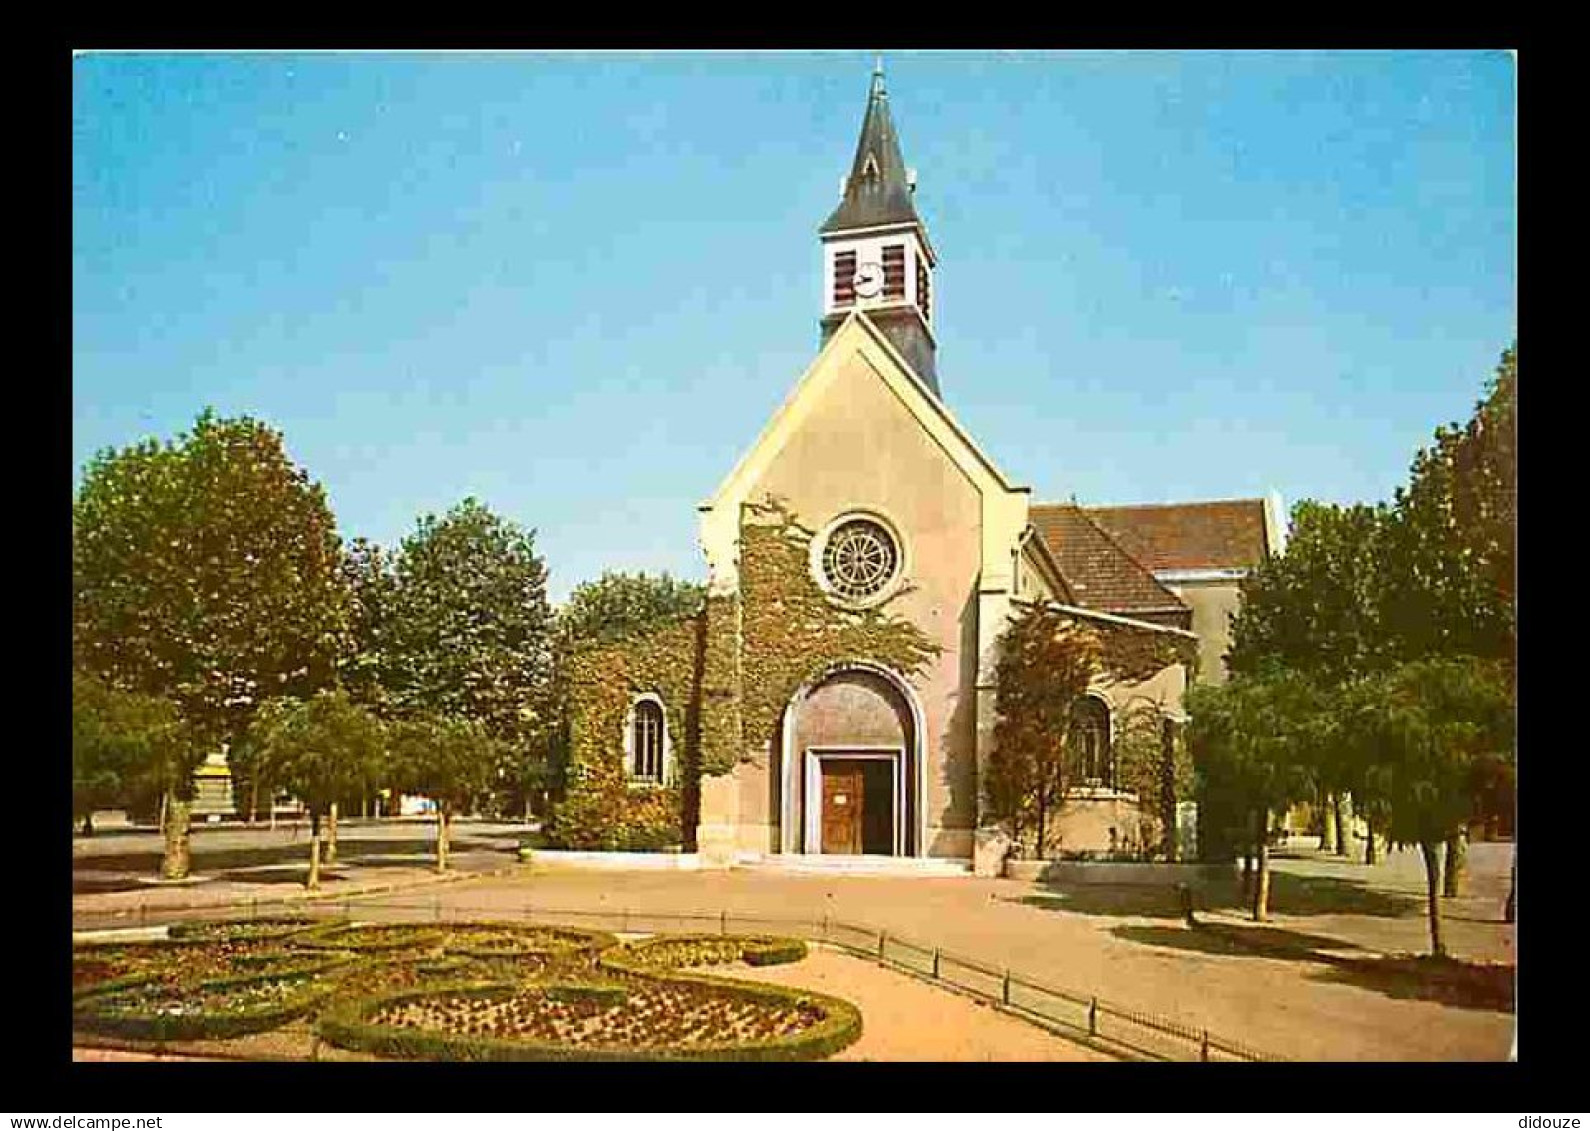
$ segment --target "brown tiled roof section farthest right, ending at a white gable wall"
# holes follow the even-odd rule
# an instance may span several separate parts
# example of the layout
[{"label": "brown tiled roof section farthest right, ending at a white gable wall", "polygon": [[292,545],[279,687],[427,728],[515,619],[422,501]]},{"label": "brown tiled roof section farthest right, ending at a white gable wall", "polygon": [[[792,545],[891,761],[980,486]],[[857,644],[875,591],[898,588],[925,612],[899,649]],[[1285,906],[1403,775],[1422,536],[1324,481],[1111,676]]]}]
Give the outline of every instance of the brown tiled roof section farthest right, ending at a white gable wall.
[{"label": "brown tiled roof section farthest right, ending at a white gable wall", "polygon": [[1264,499],[1091,506],[1088,515],[1150,569],[1237,569],[1264,560]]}]

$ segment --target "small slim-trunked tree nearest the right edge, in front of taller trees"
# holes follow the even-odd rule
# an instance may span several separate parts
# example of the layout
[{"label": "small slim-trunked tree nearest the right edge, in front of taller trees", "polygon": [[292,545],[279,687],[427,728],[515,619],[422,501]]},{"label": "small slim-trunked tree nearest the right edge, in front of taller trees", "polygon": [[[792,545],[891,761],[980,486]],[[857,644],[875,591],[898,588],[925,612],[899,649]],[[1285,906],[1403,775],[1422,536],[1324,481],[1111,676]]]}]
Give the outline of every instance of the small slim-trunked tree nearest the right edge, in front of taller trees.
[{"label": "small slim-trunked tree nearest the right edge, in front of taller trees", "polygon": [[1344,719],[1355,794],[1380,806],[1393,843],[1418,845],[1423,856],[1429,945],[1442,956],[1441,845],[1472,819],[1483,783],[1514,762],[1506,665],[1477,657],[1410,660],[1355,682]]}]

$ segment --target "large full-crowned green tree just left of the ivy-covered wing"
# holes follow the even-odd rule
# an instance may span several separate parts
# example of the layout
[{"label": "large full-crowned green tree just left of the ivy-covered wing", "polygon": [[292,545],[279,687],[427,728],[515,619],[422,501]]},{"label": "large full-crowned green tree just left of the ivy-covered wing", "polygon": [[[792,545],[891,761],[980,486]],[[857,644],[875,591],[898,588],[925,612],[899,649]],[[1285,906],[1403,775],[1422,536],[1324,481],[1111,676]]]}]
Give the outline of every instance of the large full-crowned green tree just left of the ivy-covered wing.
[{"label": "large full-crowned green tree just left of the ivy-covered wing", "polygon": [[396,717],[471,719],[498,741],[494,781],[522,805],[552,727],[552,612],[534,531],[477,499],[426,515],[383,593],[380,684]]}]

